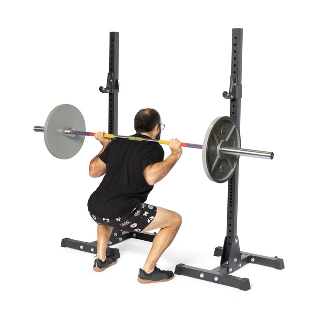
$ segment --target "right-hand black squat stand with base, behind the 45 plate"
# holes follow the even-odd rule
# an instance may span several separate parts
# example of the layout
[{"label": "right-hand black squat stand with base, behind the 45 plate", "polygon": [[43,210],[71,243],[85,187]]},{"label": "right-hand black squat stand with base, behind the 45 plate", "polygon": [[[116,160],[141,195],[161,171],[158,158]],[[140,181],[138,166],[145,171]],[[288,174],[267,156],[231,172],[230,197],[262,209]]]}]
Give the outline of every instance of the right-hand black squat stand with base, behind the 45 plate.
[{"label": "right-hand black squat stand with base, behind the 45 plate", "polygon": [[[234,119],[240,129],[240,108],[242,97],[242,47],[243,29],[232,30],[231,75],[229,92],[223,92],[223,97],[230,100],[230,117]],[[198,278],[213,283],[239,288],[247,291],[250,289],[248,278],[230,275],[248,263],[259,264],[284,269],[284,260],[278,257],[266,257],[240,251],[237,236],[237,205],[238,205],[238,177],[239,164],[235,173],[228,181],[227,222],[224,246],[215,248],[214,256],[221,257],[220,266],[206,270],[178,264],[175,274]]]}]

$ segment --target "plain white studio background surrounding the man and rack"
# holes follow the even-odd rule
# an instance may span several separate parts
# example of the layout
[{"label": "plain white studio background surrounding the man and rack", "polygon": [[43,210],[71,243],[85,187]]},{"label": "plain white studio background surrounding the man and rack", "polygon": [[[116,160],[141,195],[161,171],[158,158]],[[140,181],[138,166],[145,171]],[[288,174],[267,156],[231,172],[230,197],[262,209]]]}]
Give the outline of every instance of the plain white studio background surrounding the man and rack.
[{"label": "plain white studio background surrounding the man and rack", "polygon": [[[2,318],[288,318],[316,315],[318,289],[318,11],[316,1],[6,1],[0,7]],[[93,254],[62,238],[96,240],[88,175],[100,145],[58,160],[45,148],[49,112],[79,108],[87,131],[108,130],[109,32],[120,32],[119,130],[152,107],[162,139],[202,144],[210,123],[229,115],[232,28],[243,28],[242,147],[274,160],[241,158],[241,250],[284,259],[275,270],[247,265],[240,291],[175,276],[141,285],[151,243],[130,239],[102,273]],[[90,141],[89,141],[90,140]],[[165,156],[169,149],[165,147]],[[227,183],[211,182],[201,152],[183,156],[148,202],[179,212],[183,224],[158,263],[212,269],[226,231]],[[174,312],[174,315],[172,314]],[[101,317],[100,317],[101,316]]]}]

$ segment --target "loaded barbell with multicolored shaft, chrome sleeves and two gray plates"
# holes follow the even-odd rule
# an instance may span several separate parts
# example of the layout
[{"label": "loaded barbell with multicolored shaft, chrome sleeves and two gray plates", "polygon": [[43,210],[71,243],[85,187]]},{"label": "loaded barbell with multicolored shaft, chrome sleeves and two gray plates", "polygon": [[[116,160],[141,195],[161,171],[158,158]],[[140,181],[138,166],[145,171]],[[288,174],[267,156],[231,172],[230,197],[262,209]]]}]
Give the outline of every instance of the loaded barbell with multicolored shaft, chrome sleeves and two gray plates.
[{"label": "loaded barbell with multicolored shaft, chrome sleeves and two gray plates", "polygon": [[[85,132],[82,113],[71,104],[61,104],[48,115],[45,125],[35,126],[35,132],[44,133],[48,151],[58,159],[75,156],[84,143],[85,136],[95,133]],[[105,138],[127,139],[138,142],[169,144],[169,141],[144,139],[132,136],[104,134]],[[182,147],[202,149],[203,167],[207,177],[215,182],[227,181],[235,172],[239,156],[260,159],[274,158],[274,153],[241,149],[241,139],[236,122],[228,116],[216,118],[208,127],[203,145],[181,143]]]}]

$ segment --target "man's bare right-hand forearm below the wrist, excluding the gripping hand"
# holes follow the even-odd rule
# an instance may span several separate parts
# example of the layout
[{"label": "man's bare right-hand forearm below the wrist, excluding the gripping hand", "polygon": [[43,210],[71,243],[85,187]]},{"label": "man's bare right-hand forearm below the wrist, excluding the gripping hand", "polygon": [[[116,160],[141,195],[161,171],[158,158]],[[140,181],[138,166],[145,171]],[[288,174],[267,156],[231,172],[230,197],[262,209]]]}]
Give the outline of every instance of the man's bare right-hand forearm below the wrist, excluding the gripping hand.
[{"label": "man's bare right-hand forearm below the wrist, excluding the gripping hand", "polygon": [[163,179],[179,160],[180,155],[170,154],[165,160],[145,168],[144,177],[149,185],[154,185]]}]

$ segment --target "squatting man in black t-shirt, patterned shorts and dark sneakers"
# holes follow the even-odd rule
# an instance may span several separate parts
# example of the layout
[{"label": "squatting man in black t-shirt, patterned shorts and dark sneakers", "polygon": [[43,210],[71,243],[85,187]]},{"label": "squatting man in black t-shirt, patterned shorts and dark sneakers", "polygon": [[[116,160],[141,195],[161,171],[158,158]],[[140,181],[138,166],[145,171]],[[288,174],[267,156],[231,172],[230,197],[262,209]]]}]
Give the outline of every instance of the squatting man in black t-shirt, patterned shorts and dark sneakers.
[{"label": "squatting man in black t-shirt, patterned shorts and dark sneakers", "polygon": [[[134,119],[134,137],[160,139],[160,114],[154,109],[140,110]],[[156,267],[158,260],[171,244],[181,225],[181,216],[171,210],[147,204],[145,201],[154,185],[164,178],[179,160],[182,150],[177,139],[170,139],[171,154],[164,160],[160,144],[105,139],[95,134],[103,148],[90,162],[91,177],[104,175],[99,187],[88,201],[91,217],[98,224],[97,257],[93,270],[103,271],[117,263],[106,256],[112,229],[129,232],[147,232],[160,228],[143,268],[139,270],[140,283],[171,280],[172,271]]]}]

